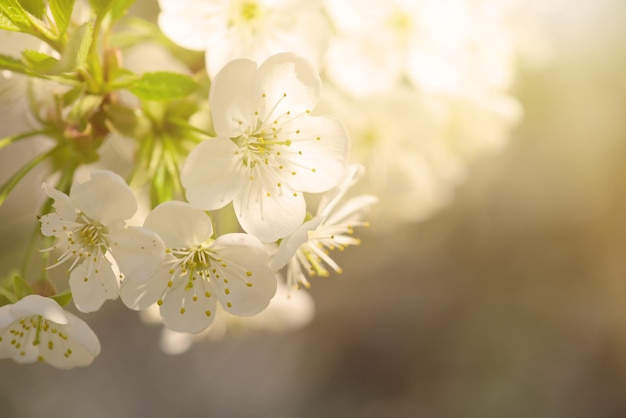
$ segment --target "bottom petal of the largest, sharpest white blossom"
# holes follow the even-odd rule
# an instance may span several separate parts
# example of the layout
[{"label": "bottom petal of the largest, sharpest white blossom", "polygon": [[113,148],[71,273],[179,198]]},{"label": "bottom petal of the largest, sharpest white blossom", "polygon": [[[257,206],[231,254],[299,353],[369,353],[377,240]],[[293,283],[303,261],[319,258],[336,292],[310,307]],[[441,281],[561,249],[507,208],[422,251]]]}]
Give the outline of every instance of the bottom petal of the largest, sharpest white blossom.
[{"label": "bottom petal of the largest, sharpest white blossom", "polygon": [[306,202],[302,193],[284,186],[270,192],[270,196],[267,193],[258,183],[250,183],[233,200],[233,206],[244,231],[263,242],[273,242],[291,234],[302,224]]}]

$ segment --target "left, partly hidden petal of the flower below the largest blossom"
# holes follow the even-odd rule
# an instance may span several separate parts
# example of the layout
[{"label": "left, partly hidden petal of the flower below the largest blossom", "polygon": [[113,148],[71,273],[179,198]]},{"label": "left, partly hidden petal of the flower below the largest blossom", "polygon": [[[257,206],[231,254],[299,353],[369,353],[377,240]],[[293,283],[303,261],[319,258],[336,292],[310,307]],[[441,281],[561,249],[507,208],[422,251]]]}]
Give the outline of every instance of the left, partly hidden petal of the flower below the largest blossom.
[{"label": "left, partly hidden petal of the flower below the largest blossom", "polygon": [[136,311],[147,309],[163,295],[170,278],[169,267],[165,265],[144,282],[124,279],[120,288],[120,298],[130,309]]}]

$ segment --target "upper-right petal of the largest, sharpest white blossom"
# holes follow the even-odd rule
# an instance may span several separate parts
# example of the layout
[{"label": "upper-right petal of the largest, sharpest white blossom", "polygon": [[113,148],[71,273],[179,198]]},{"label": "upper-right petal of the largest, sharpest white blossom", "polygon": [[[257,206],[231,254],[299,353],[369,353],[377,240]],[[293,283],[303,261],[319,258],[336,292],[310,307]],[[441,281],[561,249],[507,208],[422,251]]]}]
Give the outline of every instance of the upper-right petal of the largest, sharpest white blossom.
[{"label": "upper-right petal of the largest, sharpest white blossom", "polygon": [[269,57],[258,71],[262,92],[265,93],[267,123],[286,115],[303,114],[317,105],[320,78],[313,65],[293,53]]}]

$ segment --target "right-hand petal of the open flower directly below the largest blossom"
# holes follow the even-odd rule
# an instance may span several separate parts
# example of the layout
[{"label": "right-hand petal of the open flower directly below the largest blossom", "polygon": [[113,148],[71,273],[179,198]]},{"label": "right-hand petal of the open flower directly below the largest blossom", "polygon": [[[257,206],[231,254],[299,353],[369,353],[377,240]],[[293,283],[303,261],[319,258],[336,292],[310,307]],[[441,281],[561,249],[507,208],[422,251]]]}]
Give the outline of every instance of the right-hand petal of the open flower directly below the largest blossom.
[{"label": "right-hand petal of the open flower directly below the largest blossom", "polygon": [[213,283],[223,290],[218,293],[220,303],[226,311],[240,316],[256,315],[265,309],[277,287],[267,251],[250,242],[251,238],[246,234],[226,234],[212,246],[226,265],[221,276],[228,283]]}]

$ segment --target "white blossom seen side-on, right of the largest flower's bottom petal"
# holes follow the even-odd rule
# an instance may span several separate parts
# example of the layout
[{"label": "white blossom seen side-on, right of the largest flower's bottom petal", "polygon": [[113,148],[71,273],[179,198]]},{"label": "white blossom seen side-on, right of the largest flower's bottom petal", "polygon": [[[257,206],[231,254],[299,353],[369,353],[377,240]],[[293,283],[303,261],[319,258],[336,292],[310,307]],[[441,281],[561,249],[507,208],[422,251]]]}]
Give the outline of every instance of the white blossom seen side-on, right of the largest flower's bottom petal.
[{"label": "white blossom seen side-on, right of the largest flower's bottom petal", "polygon": [[327,267],[342,272],[329,252],[361,243],[353,236],[354,228],[368,225],[362,216],[378,201],[375,196],[360,195],[337,206],[362,175],[363,166],[351,165],[339,185],[322,197],[316,216],[281,241],[271,266],[278,270],[287,264],[288,287],[310,286],[303,268],[309,276],[328,276]]}]

